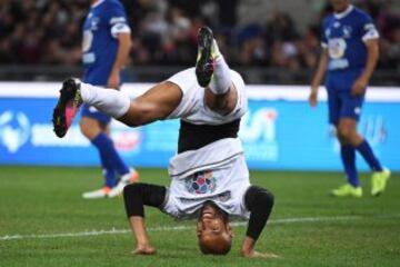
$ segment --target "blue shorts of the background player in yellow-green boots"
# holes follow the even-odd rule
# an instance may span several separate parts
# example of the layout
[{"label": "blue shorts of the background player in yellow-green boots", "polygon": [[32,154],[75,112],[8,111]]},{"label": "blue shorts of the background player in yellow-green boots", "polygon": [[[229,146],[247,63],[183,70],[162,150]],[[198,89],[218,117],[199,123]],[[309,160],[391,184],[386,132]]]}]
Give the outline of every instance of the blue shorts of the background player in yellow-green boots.
[{"label": "blue shorts of the background player in yellow-green boots", "polygon": [[364,96],[351,96],[351,87],[362,70],[330,71],[327,76],[329,122],[338,125],[341,118],[360,119]]}]

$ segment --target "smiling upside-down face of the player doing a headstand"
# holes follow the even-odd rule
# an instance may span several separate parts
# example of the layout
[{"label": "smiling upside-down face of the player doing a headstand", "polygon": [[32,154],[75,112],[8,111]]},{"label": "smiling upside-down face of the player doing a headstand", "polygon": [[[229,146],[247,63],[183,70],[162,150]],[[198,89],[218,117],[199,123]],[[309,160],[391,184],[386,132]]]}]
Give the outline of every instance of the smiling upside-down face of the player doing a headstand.
[{"label": "smiling upside-down face of the player doing a headstand", "polygon": [[227,240],[232,238],[232,228],[213,205],[204,205],[197,221],[198,238],[202,241]]}]

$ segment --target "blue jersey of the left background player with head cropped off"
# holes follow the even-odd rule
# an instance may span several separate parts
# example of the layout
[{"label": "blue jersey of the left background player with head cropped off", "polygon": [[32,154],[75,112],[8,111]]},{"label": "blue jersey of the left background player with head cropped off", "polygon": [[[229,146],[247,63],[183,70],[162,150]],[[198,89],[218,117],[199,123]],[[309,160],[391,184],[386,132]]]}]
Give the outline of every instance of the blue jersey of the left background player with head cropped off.
[{"label": "blue jersey of the left background player with head cropped off", "polygon": [[123,6],[117,0],[96,2],[83,24],[83,81],[106,86],[114,63],[120,32],[130,32]]}]

